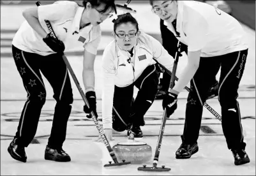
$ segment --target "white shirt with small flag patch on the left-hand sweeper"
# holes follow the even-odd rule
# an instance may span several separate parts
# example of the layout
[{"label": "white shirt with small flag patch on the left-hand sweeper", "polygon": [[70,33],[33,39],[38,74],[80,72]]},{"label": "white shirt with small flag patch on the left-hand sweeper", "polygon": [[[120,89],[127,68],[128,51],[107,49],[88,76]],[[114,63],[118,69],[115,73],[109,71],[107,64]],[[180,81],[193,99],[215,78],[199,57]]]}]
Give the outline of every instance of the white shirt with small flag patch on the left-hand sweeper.
[{"label": "white shirt with small flag patch on the left-hand sweeper", "polygon": [[[49,29],[45,20],[50,21],[57,38],[65,45],[65,52],[84,47],[87,52],[96,55],[102,31],[100,25],[92,26],[91,24],[79,29],[83,11],[84,7],[73,1],[56,1],[53,4],[38,6],[38,20],[46,33],[49,33]],[[15,34],[12,44],[25,52],[40,55],[55,53],[26,20]]]}]

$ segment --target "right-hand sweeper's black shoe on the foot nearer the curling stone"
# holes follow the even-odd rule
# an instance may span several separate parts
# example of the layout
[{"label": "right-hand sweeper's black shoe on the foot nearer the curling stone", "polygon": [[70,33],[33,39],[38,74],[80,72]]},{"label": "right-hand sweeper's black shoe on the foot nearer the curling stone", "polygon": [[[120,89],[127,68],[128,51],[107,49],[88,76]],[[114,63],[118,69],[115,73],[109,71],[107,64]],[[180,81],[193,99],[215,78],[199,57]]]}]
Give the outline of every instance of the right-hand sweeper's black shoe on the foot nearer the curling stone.
[{"label": "right-hand sweeper's black shoe on the foot nearer the curling stone", "polygon": [[195,154],[198,152],[199,147],[197,145],[197,142],[193,144],[188,144],[184,142],[184,136],[181,136],[182,143],[179,149],[176,151],[176,159],[188,159],[192,156],[192,154]]}]

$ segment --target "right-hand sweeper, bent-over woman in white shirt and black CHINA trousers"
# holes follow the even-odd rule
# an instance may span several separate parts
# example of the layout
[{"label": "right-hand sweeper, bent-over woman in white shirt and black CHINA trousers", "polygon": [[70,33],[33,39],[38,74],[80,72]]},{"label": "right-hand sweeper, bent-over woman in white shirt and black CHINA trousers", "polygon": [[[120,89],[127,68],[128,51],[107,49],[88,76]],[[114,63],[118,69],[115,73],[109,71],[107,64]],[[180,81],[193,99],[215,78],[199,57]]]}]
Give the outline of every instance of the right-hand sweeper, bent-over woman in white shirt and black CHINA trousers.
[{"label": "right-hand sweeper, bent-over woman in white shirt and black CHINA trousers", "polygon": [[227,148],[232,150],[235,165],[249,163],[237,101],[248,54],[243,27],[232,16],[206,3],[151,0],[150,4],[167,29],[188,46],[188,63],[169,96],[163,98],[163,102],[170,105],[167,114],[173,113],[177,108],[177,95],[190,82],[182,143],[176,158],[191,158],[199,150],[197,140],[203,105],[220,70],[218,100]]}]

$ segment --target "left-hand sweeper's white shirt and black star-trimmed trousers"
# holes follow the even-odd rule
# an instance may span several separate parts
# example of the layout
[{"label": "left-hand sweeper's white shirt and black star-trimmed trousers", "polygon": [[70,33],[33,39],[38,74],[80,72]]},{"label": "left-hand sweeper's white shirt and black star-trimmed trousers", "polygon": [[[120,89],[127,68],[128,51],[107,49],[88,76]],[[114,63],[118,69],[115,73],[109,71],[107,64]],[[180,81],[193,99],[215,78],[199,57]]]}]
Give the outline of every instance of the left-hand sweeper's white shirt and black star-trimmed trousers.
[{"label": "left-hand sweeper's white shirt and black star-trimmed trousers", "polygon": [[[64,43],[64,51],[84,47],[87,52],[96,55],[101,29],[100,26],[91,25],[80,29],[83,11],[84,7],[75,2],[57,1],[38,6],[38,19],[47,33],[50,31],[44,20],[50,21],[57,38]],[[36,134],[47,94],[42,73],[52,86],[54,99],[57,101],[48,146],[61,149],[73,103],[70,77],[62,55],[52,51],[27,21],[23,22],[15,34],[12,45],[13,58],[27,91],[27,101],[20,115],[15,143],[27,147]]]}]

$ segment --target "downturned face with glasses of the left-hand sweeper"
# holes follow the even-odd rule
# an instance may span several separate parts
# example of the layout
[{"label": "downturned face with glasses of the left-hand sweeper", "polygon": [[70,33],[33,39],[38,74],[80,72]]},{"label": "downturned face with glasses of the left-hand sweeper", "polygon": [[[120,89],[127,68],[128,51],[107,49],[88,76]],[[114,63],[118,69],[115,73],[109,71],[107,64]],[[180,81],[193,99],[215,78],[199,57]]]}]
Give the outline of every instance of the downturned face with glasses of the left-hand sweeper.
[{"label": "downturned face with glasses of the left-hand sweeper", "polygon": [[93,7],[90,3],[86,4],[86,13],[83,13],[82,18],[89,20],[93,26],[98,26],[105,19],[109,18],[112,15],[112,8],[109,8],[107,11],[102,13],[104,10],[105,4],[100,4],[98,7]]}]

